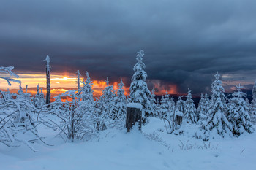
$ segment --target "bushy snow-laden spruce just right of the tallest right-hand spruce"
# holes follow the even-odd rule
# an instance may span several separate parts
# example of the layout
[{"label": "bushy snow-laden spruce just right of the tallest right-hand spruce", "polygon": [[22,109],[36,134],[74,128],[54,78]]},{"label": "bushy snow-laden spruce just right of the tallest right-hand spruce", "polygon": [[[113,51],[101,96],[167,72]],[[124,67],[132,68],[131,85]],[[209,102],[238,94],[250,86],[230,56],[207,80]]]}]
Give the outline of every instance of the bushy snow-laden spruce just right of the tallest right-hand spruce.
[{"label": "bushy snow-laden spruce just right of the tallest right-hand spruce", "polygon": [[238,91],[233,93],[233,98],[230,98],[227,105],[227,120],[233,125],[233,134],[240,136],[244,131],[252,133],[255,129],[250,120],[249,107],[244,100],[246,93],[242,92],[240,84],[236,88]]}]

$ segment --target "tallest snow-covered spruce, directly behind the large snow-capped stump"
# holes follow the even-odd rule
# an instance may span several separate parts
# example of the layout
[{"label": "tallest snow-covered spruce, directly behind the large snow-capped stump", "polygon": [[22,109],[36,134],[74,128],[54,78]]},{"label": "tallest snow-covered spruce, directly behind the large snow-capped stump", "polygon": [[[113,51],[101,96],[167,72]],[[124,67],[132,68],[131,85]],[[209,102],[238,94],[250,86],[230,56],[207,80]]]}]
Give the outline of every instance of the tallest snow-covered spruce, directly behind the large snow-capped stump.
[{"label": "tallest snow-covered spruce, directly behind the large snow-capped stump", "polygon": [[148,85],[146,84],[147,74],[144,71],[146,66],[142,62],[143,55],[143,50],[140,50],[136,57],[137,63],[133,67],[135,73],[132,76],[132,83],[129,87],[129,102],[141,104],[143,106],[143,112],[145,112],[145,115],[150,115],[152,112],[151,92],[148,90]]}]

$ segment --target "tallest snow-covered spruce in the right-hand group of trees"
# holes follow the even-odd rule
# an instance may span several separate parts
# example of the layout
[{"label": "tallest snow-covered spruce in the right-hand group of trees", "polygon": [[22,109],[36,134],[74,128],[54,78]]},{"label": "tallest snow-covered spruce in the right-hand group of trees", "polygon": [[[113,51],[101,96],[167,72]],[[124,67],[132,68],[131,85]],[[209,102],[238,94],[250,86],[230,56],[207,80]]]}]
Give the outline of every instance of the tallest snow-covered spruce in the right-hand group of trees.
[{"label": "tallest snow-covered spruce in the right-hand group of trees", "polygon": [[232,125],[227,120],[226,112],[226,96],[224,94],[224,88],[222,87],[222,81],[220,80],[220,75],[215,74],[215,80],[211,84],[211,102],[208,107],[208,119],[206,120],[206,125],[203,125],[203,129],[206,131],[212,131],[216,129],[217,134],[222,135],[231,134],[233,129]]}]

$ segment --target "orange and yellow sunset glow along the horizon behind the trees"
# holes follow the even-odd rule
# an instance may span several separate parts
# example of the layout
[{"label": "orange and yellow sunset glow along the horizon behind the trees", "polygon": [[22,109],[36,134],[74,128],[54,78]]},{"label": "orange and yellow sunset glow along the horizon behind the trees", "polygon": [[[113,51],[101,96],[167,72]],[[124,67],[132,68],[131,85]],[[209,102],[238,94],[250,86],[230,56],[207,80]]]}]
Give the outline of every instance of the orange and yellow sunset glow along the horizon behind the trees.
[{"label": "orange and yellow sunset glow along the horizon behind the trees", "polygon": [[[28,85],[28,93],[31,93],[33,96],[37,93],[37,85],[42,88],[42,92],[46,93],[46,78],[45,74],[20,74],[20,78],[18,79],[22,82],[23,91],[25,92],[26,85]],[[51,97],[59,95],[61,93],[66,92],[67,90],[77,89],[77,78],[75,74],[51,74],[50,75],[50,84],[51,84]],[[113,82],[110,85],[113,85],[113,90],[116,92],[118,90],[118,83]],[[154,84],[155,87],[155,95],[162,96],[165,95],[166,90],[169,94],[177,94],[177,86],[176,85],[168,85],[168,87],[163,87],[160,84],[159,80],[153,80],[151,83]],[[80,83],[80,86],[83,87],[83,84]],[[106,82],[103,80],[92,80],[92,89],[94,90],[94,97],[99,97],[102,95],[102,90],[106,87]],[[10,89],[10,92],[17,93],[19,84],[12,82],[12,86],[8,86],[5,80],[0,80],[0,89],[7,90]],[[125,96],[129,96],[129,85],[124,85],[124,94]],[[151,90],[151,89],[150,89]]]}]

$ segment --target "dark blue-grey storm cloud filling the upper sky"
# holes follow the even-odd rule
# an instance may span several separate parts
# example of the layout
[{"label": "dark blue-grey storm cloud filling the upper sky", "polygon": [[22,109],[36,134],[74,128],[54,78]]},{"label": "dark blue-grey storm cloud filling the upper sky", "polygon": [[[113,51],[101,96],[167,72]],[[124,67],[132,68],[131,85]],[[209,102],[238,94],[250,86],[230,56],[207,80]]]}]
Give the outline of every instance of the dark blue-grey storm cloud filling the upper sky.
[{"label": "dark blue-grey storm cloud filling the upper sky", "polygon": [[[1,1],[1,65],[90,72],[126,83],[143,49],[148,79],[207,91],[218,70],[256,78],[256,1]],[[234,80],[238,77],[233,77]]]}]

